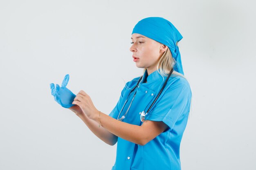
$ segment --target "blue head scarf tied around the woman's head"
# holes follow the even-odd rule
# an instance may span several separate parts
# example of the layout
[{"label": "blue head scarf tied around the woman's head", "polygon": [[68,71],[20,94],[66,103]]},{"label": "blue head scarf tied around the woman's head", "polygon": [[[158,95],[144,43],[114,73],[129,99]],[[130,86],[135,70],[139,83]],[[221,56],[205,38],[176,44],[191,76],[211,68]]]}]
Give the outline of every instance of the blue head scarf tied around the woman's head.
[{"label": "blue head scarf tied around the woman's head", "polygon": [[135,25],[133,33],[144,35],[168,46],[176,61],[173,66],[174,71],[184,75],[179,47],[176,45],[183,37],[170,21],[161,17],[144,18]]}]

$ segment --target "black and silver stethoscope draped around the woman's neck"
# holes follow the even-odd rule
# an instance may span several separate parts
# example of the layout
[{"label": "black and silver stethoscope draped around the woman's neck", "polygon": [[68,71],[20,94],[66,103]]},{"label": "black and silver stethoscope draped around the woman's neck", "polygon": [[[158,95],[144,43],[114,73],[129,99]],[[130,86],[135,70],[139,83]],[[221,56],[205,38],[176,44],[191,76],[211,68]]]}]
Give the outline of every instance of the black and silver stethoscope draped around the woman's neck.
[{"label": "black and silver stethoscope draped around the woman's neck", "polygon": [[[149,107],[148,111],[147,111],[146,113],[145,113],[145,111],[142,111],[142,112],[139,113],[139,114],[140,114],[140,120],[141,120],[142,122],[145,121],[145,116],[148,114],[149,110],[152,108],[152,106],[153,106],[153,105],[155,104],[155,102],[157,101],[158,97],[161,95],[161,93],[162,93],[164,87],[166,86],[166,83],[167,83],[167,81],[168,81],[168,79],[169,79],[169,77],[171,76],[172,73],[173,73],[173,68],[171,69],[171,71],[170,71],[170,73],[169,73],[169,75],[168,75],[166,81],[164,82],[164,85],[162,86],[161,91],[159,92],[159,94],[158,94],[157,97],[155,98],[154,102],[153,102],[153,103],[151,104],[151,106]],[[137,82],[136,86],[135,86],[134,88],[132,88],[132,90],[130,91],[129,95],[135,90],[135,88],[137,88],[137,87],[139,86],[139,82],[140,82],[141,79],[142,79],[142,76],[139,78],[139,81]],[[135,91],[135,93],[134,93],[134,95],[133,95],[133,97],[132,97],[132,101],[133,101],[133,99],[134,99],[136,93],[137,93],[137,91]],[[127,101],[128,101],[129,95],[126,97],[126,101],[124,102],[124,106],[126,105],[126,103],[127,103]],[[128,109],[126,110],[126,113],[125,113],[121,118],[119,118],[121,112],[122,112],[123,109],[124,109],[124,106],[121,108],[121,110],[120,110],[120,112],[119,112],[119,115],[118,115],[118,117],[117,117],[117,120],[122,121],[122,120],[126,117],[128,111],[129,111],[129,109],[130,109],[130,106],[132,105],[132,101],[131,101],[131,103],[130,103]]]}]

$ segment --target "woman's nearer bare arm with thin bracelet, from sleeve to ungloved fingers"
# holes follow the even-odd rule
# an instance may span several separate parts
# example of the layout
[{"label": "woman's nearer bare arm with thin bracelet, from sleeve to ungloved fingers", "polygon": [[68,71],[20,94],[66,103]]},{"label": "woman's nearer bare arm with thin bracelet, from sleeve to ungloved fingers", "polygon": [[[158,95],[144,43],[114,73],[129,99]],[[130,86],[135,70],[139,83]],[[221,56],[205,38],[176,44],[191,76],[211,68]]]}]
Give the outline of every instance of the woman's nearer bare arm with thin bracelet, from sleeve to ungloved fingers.
[{"label": "woman's nearer bare arm with thin bracelet, from sleeve to ungloved fingers", "polygon": [[[95,108],[88,94],[84,91],[80,91],[74,98],[72,104],[78,105],[90,121],[94,121],[94,124],[99,125],[99,110]],[[118,137],[139,145],[147,144],[168,128],[162,121],[146,120],[141,126],[137,126],[119,121],[104,113],[100,115],[101,125],[106,130]],[[91,122],[91,124],[93,123]],[[99,128],[99,126],[97,126],[97,128]]]}]

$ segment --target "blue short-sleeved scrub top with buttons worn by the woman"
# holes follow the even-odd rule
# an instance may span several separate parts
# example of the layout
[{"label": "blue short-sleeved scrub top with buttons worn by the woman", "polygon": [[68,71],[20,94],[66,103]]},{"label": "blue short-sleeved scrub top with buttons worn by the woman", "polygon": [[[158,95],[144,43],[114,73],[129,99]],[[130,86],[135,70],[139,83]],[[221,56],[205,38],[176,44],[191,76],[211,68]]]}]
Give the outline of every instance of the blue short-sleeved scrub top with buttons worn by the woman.
[{"label": "blue short-sleeved scrub top with buttons worn by the woman", "polygon": [[[158,71],[150,75],[145,71],[139,87],[136,88],[137,93],[124,122],[142,124],[139,112],[148,110],[166,78],[162,77]],[[136,77],[126,83],[117,105],[109,116],[117,119],[128,94],[136,86],[138,80],[139,77]],[[119,118],[126,112],[135,91],[130,94]],[[168,125],[167,130],[144,146],[118,137],[117,156],[112,170],[180,170],[180,142],[188,121],[191,97],[189,82],[181,76],[171,75],[161,95],[146,116],[146,120],[163,121]]]}]

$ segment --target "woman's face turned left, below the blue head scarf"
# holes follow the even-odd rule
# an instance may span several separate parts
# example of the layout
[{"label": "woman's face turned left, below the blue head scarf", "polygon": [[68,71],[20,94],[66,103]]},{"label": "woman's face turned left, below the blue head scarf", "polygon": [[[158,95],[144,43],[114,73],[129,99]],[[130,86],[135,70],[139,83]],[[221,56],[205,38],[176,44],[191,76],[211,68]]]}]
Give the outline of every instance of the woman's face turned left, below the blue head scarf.
[{"label": "woman's face turned left, below the blue head scarf", "polygon": [[167,49],[167,46],[138,33],[133,33],[131,39],[130,51],[133,53],[132,57],[136,66],[147,68],[151,73],[155,71],[159,58]]}]

